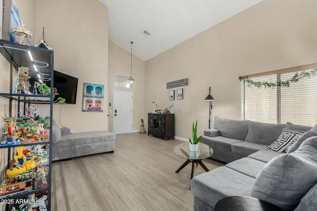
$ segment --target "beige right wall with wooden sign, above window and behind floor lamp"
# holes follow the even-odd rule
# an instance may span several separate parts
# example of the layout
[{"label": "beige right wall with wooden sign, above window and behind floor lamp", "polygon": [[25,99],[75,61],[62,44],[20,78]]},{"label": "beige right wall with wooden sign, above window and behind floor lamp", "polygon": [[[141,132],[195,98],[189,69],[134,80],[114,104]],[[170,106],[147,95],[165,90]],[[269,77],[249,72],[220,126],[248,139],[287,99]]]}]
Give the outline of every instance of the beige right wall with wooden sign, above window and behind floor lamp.
[{"label": "beige right wall with wooden sign, above window and behind floor lamp", "polygon": [[[196,119],[198,131],[208,128],[211,86],[212,123],[214,115],[241,119],[239,75],[317,62],[316,8],[316,0],[264,0],[147,60],[145,114],[152,101],[173,103],[175,135],[188,139]],[[168,100],[166,83],[184,78],[184,99]]]}]

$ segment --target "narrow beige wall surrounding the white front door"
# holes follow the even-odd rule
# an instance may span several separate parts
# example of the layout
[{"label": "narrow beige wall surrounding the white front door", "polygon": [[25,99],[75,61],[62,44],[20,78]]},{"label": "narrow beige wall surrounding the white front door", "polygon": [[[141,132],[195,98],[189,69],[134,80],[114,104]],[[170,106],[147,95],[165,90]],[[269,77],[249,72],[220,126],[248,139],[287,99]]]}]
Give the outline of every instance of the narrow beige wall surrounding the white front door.
[{"label": "narrow beige wall surrounding the white front door", "polygon": [[[133,46],[138,43],[134,43]],[[132,46],[132,52],[133,52]],[[132,76],[134,83],[131,88],[115,87],[114,75],[130,77],[131,71],[131,52],[128,52],[120,46],[109,41],[109,65],[108,65],[108,87],[109,87],[109,131],[113,131],[113,91],[130,91],[133,92],[133,130],[139,130],[141,119],[147,119],[144,114],[144,77],[145,62],[138,57],[132,55]]]}]

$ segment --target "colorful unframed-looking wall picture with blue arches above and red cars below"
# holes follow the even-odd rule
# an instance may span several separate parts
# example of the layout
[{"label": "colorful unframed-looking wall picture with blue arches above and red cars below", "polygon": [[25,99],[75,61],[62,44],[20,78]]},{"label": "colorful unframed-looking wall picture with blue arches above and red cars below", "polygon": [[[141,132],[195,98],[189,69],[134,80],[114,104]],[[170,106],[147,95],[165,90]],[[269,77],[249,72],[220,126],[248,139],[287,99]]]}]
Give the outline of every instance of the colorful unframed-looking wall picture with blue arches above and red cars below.
[{"label": "colorful unframed-looking wall picture with blue arches above and red cars below", "polygon": [[84,83],[83,91],[83,111],[103,112],[104,111],[104,91],[102,84]]}]

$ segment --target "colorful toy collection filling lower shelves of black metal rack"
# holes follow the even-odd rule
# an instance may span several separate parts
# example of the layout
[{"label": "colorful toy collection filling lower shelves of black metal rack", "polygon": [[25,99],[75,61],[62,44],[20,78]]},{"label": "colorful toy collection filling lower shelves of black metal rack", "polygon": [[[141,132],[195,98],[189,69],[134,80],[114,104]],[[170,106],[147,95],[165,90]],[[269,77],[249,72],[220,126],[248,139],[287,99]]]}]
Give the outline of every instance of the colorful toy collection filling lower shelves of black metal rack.
[{"label": "colorful toy collection filling lower shelves of black metal rack", "polygon": [[[15,116],[6,116],[6,114],[4,114],[5,117],[1,116],[4,122],[1,132],[4,137],[0,146],[28,143],[32,145],[14,147],[13,160],[9,161],[9,168],[5,172],[6,178],[0,184],[0,198],[48,187],[46,176],[49,170],[47,168],[49,147],[43,142],[48,142],[47,129],[50,128],[50,122],[39,119],[37,113],[35,105],[29,105],[25,108],[25,115],[22,118],[17,119]],[[33,206],[34,210],[46,211],[46,199],[47,191],[42,191],[35,198],[33,196],[32,202],[14,203],[11,210],[22,211],[26,208],[33,210]]]}]

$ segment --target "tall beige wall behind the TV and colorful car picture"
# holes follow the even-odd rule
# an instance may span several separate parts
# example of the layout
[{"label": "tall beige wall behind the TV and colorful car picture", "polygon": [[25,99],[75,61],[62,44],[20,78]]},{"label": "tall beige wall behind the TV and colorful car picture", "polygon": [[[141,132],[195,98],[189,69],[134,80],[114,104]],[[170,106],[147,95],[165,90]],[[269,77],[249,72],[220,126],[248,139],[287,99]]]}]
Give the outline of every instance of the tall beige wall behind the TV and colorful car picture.
[{"label": "tall beige wall behind the TV and colorful car picture", "polygon": [[[20,8],[20,7],[19,7]],[[54,105],[53,118],[72,132],[107,129],[104,112],[82,112],[83,83],[108,89],[108,9],[98,0],[35,0],[35,41],[45,26],[47,43],[54,50],[54,70],[78,78],[75,105]],[[41,114],[42,116],[45,116]]]}]

